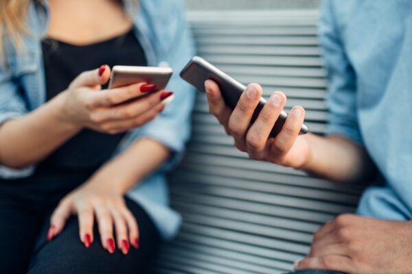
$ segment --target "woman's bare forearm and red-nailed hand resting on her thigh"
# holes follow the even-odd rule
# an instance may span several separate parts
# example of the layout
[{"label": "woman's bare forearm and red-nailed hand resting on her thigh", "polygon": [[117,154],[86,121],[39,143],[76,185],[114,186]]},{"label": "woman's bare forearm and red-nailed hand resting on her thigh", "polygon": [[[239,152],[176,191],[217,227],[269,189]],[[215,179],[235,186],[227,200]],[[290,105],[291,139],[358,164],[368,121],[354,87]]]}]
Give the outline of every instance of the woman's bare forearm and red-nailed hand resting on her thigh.
[{"label": "woman's bare forearm and red-nailed hand resting on her thigh", "polygon": [[124,195],[136,182],[141,182],[158,169],[169,156],[169,149],[155,140],[136,140],[60,201],[50,219],[49,240],[62,232],[65,221],[76,212],[79,237],[86,247],[93,243],[93,224],[96,219],[104,249],[113,253],[117,246],[126,254],[129,242],[138,248],[139,227],[133,214],[126,208]]}]

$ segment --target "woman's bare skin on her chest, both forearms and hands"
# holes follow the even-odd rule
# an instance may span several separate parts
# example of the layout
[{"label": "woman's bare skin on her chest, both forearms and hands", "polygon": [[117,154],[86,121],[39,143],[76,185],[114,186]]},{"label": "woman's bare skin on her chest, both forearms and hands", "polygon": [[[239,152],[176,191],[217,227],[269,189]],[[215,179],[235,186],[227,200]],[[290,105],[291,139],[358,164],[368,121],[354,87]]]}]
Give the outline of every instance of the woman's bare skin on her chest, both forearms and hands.
[{"label": "woman's bare skin on her chest, both forearms and hands", "polygon": [[[131,27],[118,1],[51,0],[49,4],[47,35],[75,45],[111,38]],[[165,108],[164,90],[131,100],[144,94],[140,87],[146,83],[102,90],[110,74],[108,66],[101,76],[98,69],[85,71],[40,108],[0,125],[0,164],[12,168],[36,164],[84,128],[107,134],[126,132],[152,121]],[[129,242],[137,248],[139,228],[126,208],[124,194],[169,156],[168,148],[155,140],[136,140],[60,201],[50,220],[49,238],[62,232],[65,221],[76,214],[85,245],[89,244],[86,235],[93,242],[97,222],[104,249],[111,251],[107,242],[114,238],[123,253],[128,252]]]}]

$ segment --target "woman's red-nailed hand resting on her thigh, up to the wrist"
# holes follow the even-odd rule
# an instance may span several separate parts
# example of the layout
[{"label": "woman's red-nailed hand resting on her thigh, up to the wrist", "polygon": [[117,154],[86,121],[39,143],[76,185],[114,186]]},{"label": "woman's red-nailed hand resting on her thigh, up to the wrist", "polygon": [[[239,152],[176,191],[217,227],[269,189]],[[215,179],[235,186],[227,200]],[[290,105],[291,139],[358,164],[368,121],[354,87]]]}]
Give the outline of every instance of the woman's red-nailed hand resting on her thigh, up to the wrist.
[{"label": "woman's red-nailed hand resting on her thigh, up to the wrist", "polygon": [[86,247],[93,242],[93,225],[98,223],[102,246],[108,252],[115,251],[113,237],[115,227],[116,245],[124,254],[129,242],[139,247],[139,227],[133,214],[126,208],[124,193],[114,187],[111,180],[95,175],[89,182],[70,192],[63,198],[50,219],[47,239],[52,240],[62,232],[71,215],[78,216],[80,240]]}]

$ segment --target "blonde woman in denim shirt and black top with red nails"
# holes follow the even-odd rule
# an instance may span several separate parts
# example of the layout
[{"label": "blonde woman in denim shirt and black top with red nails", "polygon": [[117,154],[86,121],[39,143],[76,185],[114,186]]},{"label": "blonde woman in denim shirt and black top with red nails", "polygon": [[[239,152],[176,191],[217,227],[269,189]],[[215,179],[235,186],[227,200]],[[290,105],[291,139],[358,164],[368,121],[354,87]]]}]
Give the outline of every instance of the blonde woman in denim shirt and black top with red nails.
[{"label": "blonde woman in denim shirt and black top with red nails", "polygon": [[179,227],[163,174],[194,92],[105,85],[117,64],[183,68],[181,1],[2,0],[0,31],[0,273],[144,273]]}]

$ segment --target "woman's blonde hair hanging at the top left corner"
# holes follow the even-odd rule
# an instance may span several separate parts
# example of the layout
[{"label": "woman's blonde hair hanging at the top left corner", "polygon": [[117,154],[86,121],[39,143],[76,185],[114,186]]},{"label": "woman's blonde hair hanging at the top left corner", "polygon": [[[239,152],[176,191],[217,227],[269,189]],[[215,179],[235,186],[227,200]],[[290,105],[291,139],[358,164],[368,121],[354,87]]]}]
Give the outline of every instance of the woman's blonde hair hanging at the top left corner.
[{"label": "woman's blonde hair hanging at the top left corner", "polygon": [[17,51],[23,47],[22,34],[27,33],[25,15],[32,0],[0,0],[0,60],[4,58],[3,37],[10,36]]}]

